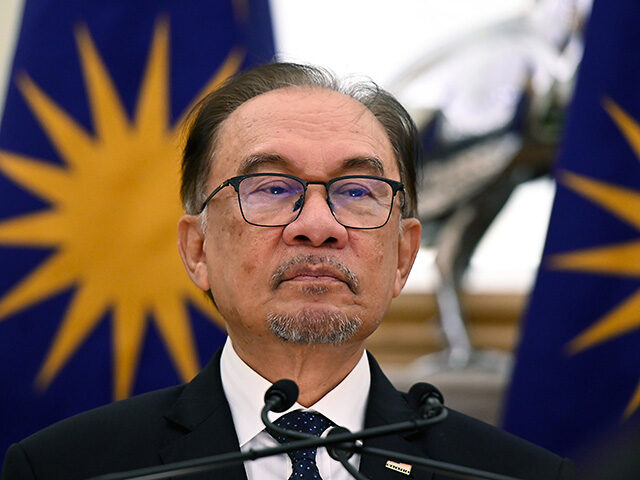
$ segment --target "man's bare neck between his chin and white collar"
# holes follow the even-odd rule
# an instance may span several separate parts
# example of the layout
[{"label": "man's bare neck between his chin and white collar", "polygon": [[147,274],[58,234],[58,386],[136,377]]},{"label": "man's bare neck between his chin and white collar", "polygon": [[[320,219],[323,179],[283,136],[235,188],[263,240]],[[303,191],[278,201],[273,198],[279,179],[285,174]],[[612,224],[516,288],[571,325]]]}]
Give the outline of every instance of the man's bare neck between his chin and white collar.
[{"label": "man's bare neck between his chin and white collar", "polygon": [[232,340],[238,356],[270,382],[293,380],[300,389],[298,403],[310,407],[333,390],[353,370],[362,357],[364,343],[341,345],[300,345],[278,341],[260,351],[245,348]]}]

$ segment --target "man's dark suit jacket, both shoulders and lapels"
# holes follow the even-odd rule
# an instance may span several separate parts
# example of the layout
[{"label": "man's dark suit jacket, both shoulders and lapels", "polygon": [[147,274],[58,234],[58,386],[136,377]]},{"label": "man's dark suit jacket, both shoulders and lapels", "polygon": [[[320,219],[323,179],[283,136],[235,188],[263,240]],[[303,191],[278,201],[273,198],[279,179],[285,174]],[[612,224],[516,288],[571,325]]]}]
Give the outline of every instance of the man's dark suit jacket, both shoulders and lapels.
[{"label": "man's dark suit jacket, both shoulders and lapels", "polygon": [[[366,426],[412,418],[414,411],[406,396],[391,385],[372,356],[369,360],[372,377]],[[366,444],[523,479],[575,478],[571,462],[452,410],[444,422],[426,431],[380,437]],[[238,448],[220,380],[218,352],[186,385],[76,415],[12,445],[0,480],[84,479]],[[383,458],[363,456],[360,471],[372,480],[408,478],[385,463]],[[197,478],[246,480],[242,465]],[[447,477],[414,467],[412,478]]]}]

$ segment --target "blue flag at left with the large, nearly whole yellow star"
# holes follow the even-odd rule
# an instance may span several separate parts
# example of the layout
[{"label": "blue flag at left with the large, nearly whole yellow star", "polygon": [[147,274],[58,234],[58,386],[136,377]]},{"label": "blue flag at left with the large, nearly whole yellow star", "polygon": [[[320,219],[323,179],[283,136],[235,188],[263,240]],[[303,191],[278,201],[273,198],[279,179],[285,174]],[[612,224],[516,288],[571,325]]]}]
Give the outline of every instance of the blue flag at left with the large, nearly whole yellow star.
[{"label": "blue flag at left with the large, nearly whole yellow star", "polygon": [[0,461],[222,344],[176,247],[182,121],[273,55],[267,0],[26,1],[0,127]]}]

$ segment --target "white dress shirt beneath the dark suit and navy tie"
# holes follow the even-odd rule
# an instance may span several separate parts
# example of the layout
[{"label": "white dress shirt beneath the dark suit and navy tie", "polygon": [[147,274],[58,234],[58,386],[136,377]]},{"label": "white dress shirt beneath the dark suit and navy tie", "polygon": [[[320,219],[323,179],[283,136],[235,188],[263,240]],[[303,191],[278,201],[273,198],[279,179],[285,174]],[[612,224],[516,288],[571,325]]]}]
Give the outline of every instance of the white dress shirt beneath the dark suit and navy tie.
[{"label": "white dress shirt beneath the dark suit and navy tie", "polygon": [[[222,350],[220,359],[222,387],[231,408],[233,424],[236,427],[240,449],[275,447],[278,441],[264,428],[260,411],[264,406],[264,393],[271,382],[261,377],[238,356],[231,340]],[[352,432],[364,427],[364,415],[371,385],[369,359],[363,353],[355,368],[333,390],[309,408],[296,402],[289,410],[269,414],[273,421],[291,410],[314,410],[323,414],[336,425]],[[328,433],[325,431],[323,437]],[[358,468],[360,456],[353,455],[349,463]],[[323,480],[350,480],[352,477],[344,467],[329,457],[325,448],[318,448],[316,464]],[[287,480],[292,472],[291,460],[287,454],[274,455],[244,464],[248,480]]]}]

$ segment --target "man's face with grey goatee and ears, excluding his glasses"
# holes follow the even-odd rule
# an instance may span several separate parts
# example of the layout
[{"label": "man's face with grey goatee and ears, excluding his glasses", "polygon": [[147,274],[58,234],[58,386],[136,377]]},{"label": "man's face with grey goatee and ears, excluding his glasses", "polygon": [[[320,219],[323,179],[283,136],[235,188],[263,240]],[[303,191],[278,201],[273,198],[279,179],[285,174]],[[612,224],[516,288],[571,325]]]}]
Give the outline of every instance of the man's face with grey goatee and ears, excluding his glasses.
[{"label": "man's face with grey goatee and ears, excluding his glasses", "polygon": [[[358,174],[400,180],[375,116],[317,88],[260,95],[222,125],[209,191],[230,177],[263,172],[323,182]],[[207,209],[204,234],[197,217],[181,222],[181,252],[196,284],[211,288],[234,345],[245,347],[361,342],[400,293],[419,246],[419,223],[400,219],[397,197],[389,222],[375,230],[339,224],[322,185],[308,187],[302,212],[285,227],[245,222],[233,187]]]}]

